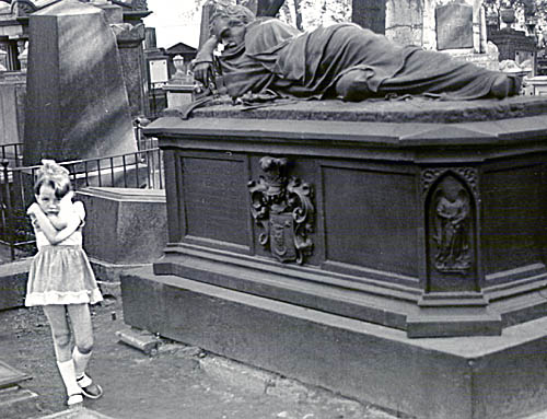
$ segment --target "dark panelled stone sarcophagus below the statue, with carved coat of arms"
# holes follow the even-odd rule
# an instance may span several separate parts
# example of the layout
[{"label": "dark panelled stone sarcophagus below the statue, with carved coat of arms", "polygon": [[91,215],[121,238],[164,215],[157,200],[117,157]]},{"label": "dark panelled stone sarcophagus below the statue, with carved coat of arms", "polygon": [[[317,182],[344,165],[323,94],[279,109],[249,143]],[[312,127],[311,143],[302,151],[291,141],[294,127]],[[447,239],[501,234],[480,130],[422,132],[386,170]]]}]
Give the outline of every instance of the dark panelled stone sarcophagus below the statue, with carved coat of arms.
[{"label": "dark panelled stone sarcophagus below the statue, with carved coat of arms", "polygon": [[547,300],[543,100],[216,106],[165,151],[155,275],[405,330],[500,335]]}]

